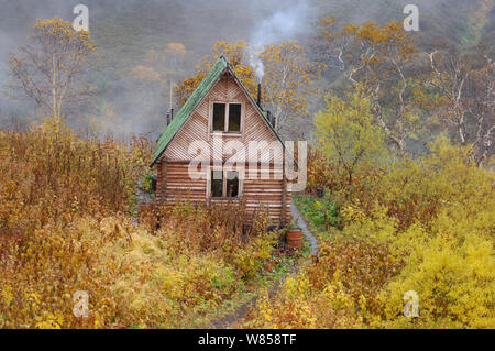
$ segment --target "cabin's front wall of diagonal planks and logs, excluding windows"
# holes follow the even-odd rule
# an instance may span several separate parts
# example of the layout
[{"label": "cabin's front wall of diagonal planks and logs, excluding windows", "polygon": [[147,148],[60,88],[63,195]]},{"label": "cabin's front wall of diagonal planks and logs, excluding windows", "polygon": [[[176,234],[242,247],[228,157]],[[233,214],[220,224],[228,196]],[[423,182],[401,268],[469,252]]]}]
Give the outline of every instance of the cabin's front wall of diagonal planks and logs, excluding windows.
[{"label": "cabin's front wall of diagonal planks and logs, excluding windows", "polygon": [[[211,132],[213,102],[242,105],[241,133],[213,135]],[[157,200],[174,202],[179,199],[188,199],[212,205],[228,202],[227,199],[209,198],[206,174],[210,168],[202,169],[206,174],[201,179],[193,179],[189,176],[188,167],[189,162],[196,156],[196,151],[193,154],[189,153],[189,146],[194,142],[202,141],[212,150],[213,141],[217,143],[221,141],[226,145],[231,140],[240,141],[246,146],[250,141],[266,141],[278,146],[272,150],[270,160],[265,160],[264,165],[257,164],[256,179],[248,177],[241,180],[240,200],[245,204],[251,219],[256,211],[264,210],[267,211],[272,224],[290,224],[290,186],[283,180],[283,164],[274,162],[274,160],[282,160],[282,143],[260,116],[257,108],[253,106],[239,83],[232,78],[221,78],[215,84],[161,156],[157,164]],[[232,161],[231,156],[232,154],[222,154],[222,163],[227,160]],[[243,160],[243,163],[246,163],[244,169],[248,175],[250,160],[246,158]],[[211,164],[211,158],[206,161]],[[270,169],[271,175],[268,179],[263,179],[261,176],[267,172],[266,169]],[[284,185],[286,187],[285,197],[283,196]],[[285,198],[285,204],[283,204],[283,198]]]}]

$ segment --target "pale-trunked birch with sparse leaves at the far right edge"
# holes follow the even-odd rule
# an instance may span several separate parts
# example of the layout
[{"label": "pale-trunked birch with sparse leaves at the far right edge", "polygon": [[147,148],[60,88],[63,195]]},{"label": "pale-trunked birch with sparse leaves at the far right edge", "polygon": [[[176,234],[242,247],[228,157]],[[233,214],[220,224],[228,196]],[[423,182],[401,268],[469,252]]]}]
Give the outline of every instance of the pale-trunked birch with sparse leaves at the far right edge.
[{"label": "pale-trunked birch with sparse leaves at the far right edge", "polygon": [[435,98],[433,113],[461,145],[472,147],[481,164],[493,154],[495,136],[495,63],[487,55],[462,56],[454,50],[428,54],[425,81]]}]

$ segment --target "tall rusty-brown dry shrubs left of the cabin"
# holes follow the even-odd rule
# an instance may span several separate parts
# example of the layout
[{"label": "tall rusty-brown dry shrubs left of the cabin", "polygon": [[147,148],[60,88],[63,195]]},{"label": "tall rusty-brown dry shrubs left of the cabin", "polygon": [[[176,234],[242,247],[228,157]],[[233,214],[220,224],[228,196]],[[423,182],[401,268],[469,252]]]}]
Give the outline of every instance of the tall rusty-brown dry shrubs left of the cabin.
[{"label": "tall rusty-brown dry shrubs left of the cabin", "polygon": [[81,139],[48,121],[26,132],[2,131],[0,231],[30,232],[80,213],[130,212],[150,157],[144,139]]}]

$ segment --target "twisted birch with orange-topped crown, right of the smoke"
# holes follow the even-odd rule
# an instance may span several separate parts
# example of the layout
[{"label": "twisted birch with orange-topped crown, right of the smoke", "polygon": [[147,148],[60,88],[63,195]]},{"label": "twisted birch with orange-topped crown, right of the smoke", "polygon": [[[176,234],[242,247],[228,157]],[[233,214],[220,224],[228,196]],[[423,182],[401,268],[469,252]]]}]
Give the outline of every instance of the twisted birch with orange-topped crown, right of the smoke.
[{"label": "twisted birch with orange-topped crown, right of the smoke", "polygon": [[415,41],[397,22],[340,26],[333,17],[321,21],[322,61],[340,72],[355,89],[362,86],[373,97],[372,110],[388,141],[402,155],[405,141],[418,122],[411,70],[417,57]]}]

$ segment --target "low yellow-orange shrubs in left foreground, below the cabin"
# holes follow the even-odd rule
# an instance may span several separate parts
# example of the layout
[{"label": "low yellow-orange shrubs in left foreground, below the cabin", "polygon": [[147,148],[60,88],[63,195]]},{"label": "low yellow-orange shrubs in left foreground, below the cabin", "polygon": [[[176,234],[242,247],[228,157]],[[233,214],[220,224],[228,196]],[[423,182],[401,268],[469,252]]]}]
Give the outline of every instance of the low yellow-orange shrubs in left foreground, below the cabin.
[{"label": "low yellow-orange shrubs in left foreground, below the cabin", "polygon": [[[87,216],[4,244],[2,326],[177,328],[206,322],[245,288],[246,277],[261,273],[276,242],[276,233],[261,232],[237,241],[228,228],[216,227],[224,246],[205,246],[195,221],[208,217],[206,211],[198,207],[184,216],[178,209],[154,234],[122,215]],[[178,222],[188,229],[178,229]],[[88,318],[73,315],[77,290],[89,294]]]}]

